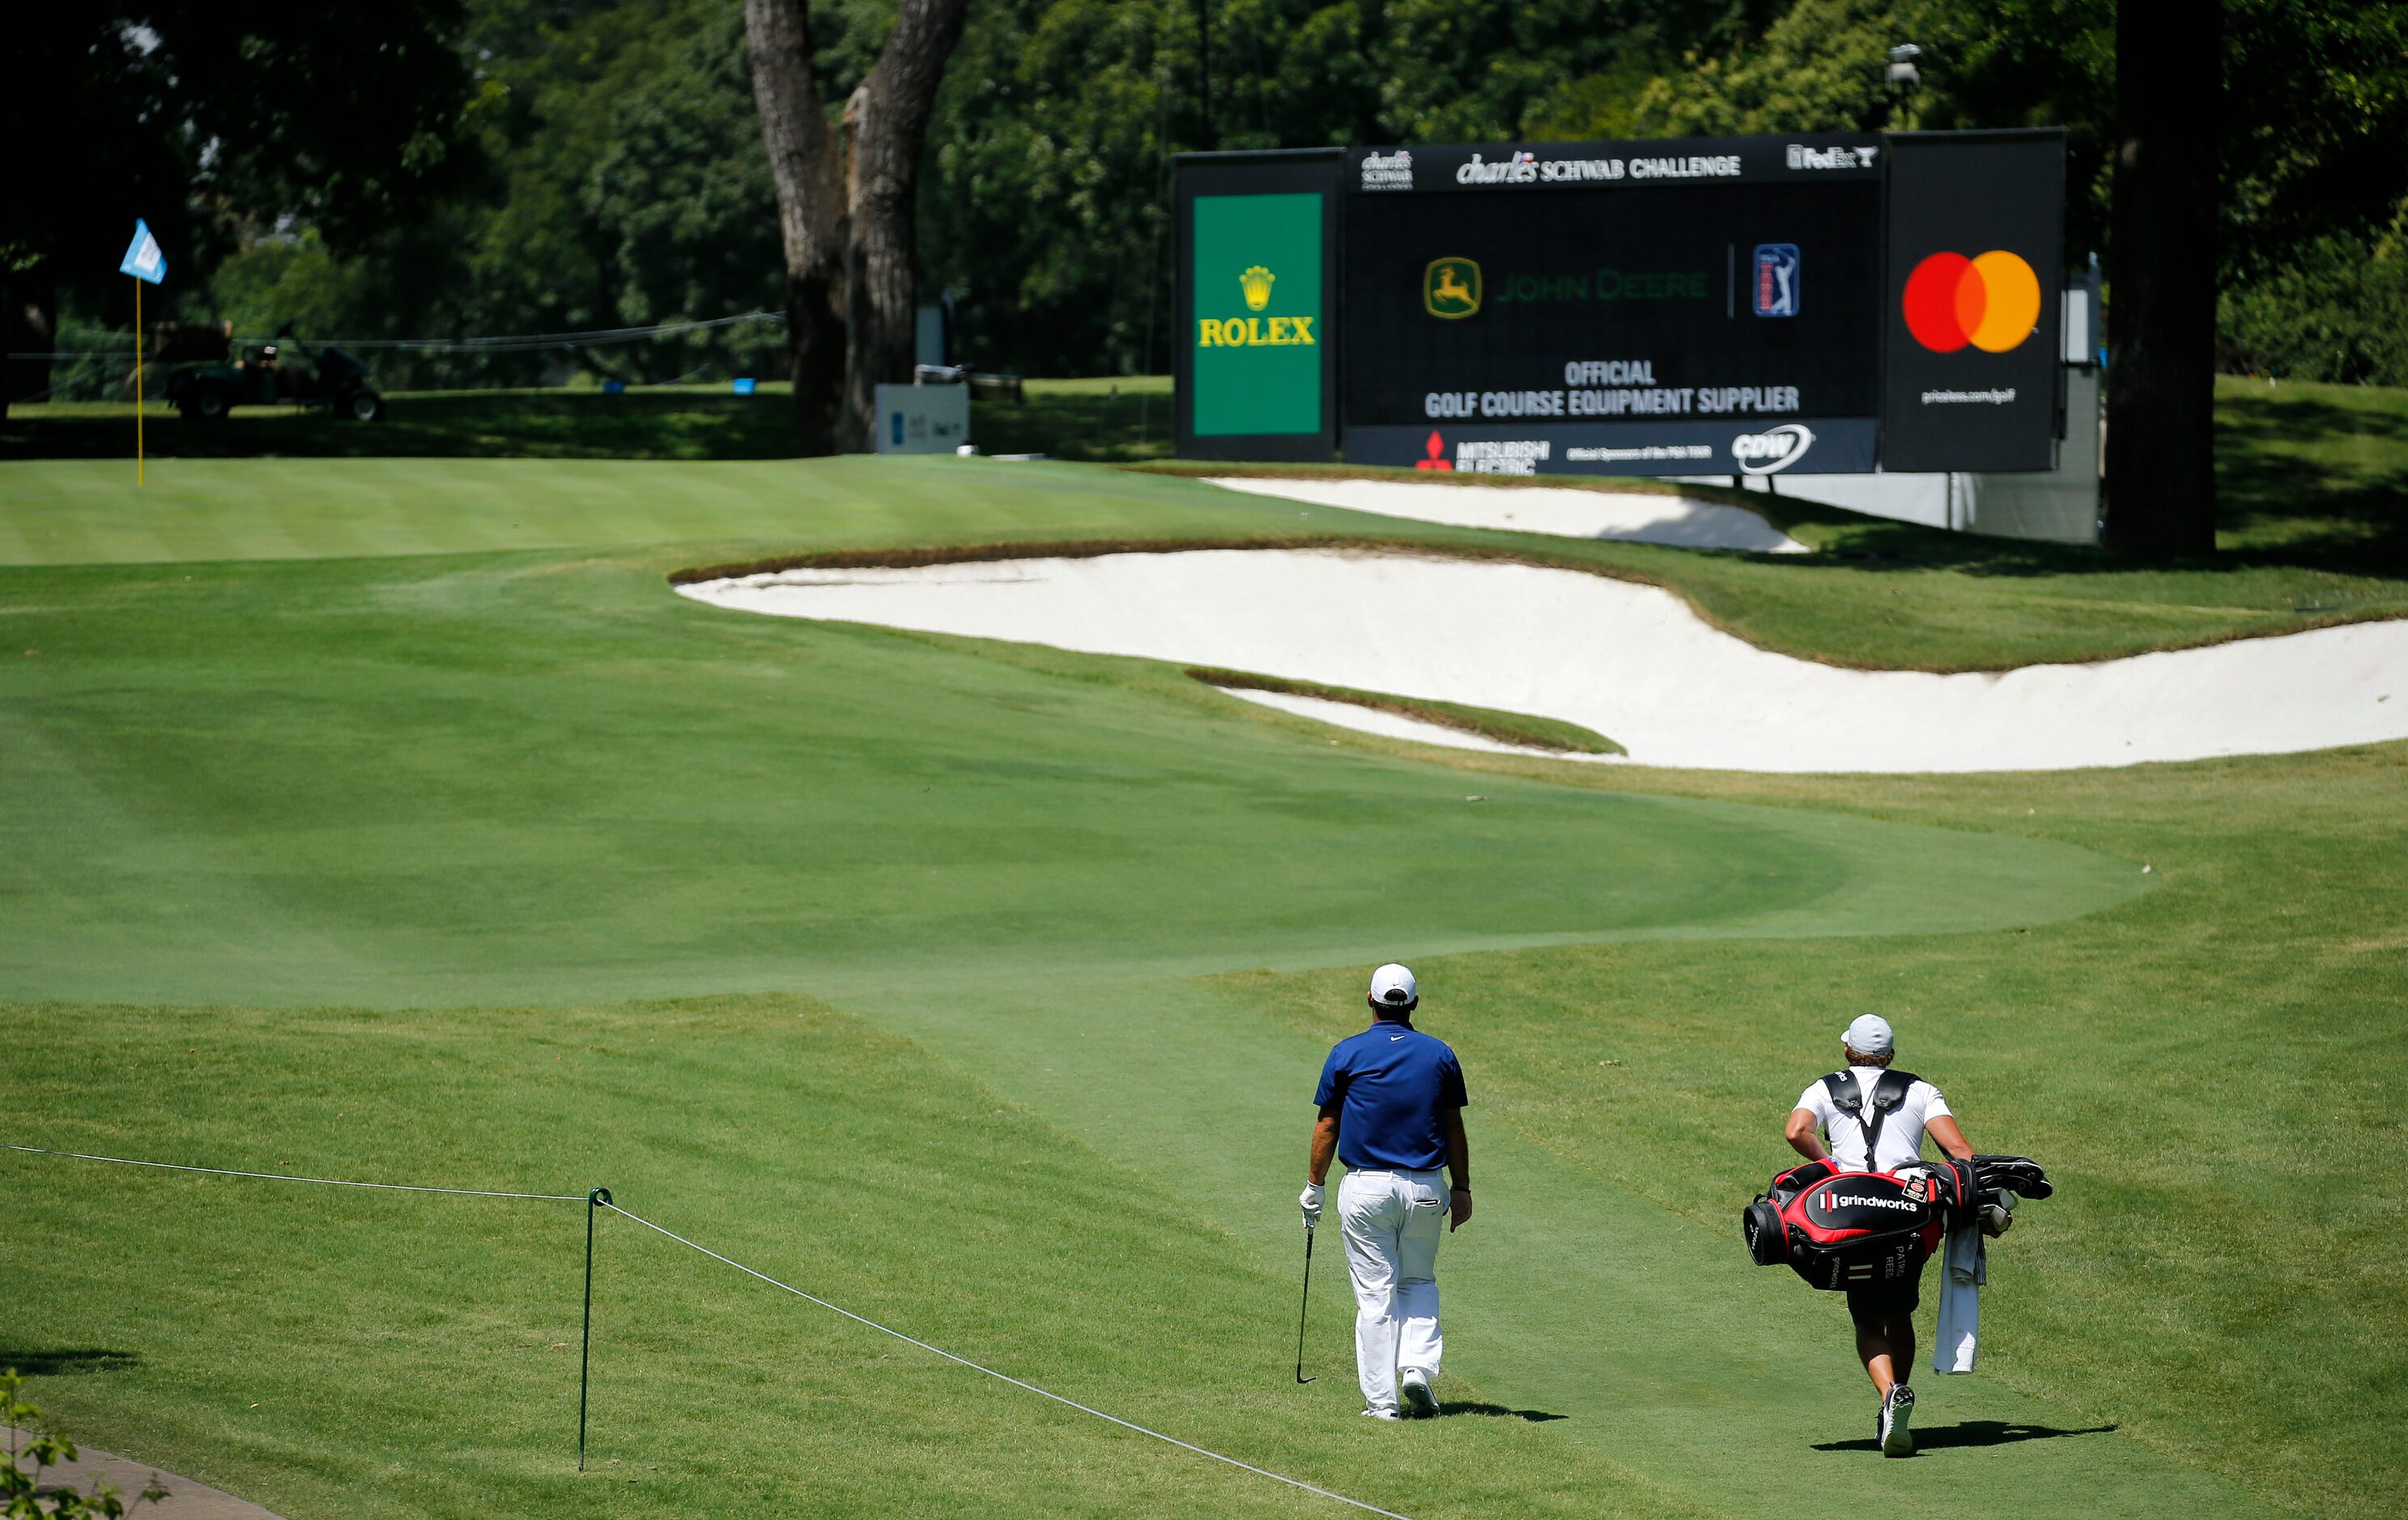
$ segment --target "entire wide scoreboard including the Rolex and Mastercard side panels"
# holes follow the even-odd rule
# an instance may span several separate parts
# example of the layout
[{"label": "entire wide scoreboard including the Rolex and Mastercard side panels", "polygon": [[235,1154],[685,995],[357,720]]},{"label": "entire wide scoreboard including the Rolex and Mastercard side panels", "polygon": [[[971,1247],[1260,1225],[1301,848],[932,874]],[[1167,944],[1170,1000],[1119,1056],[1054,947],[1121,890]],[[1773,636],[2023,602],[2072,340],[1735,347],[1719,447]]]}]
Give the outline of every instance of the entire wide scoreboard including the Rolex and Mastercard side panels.
[{"label": "entire wide scoreboard including the Rolex and Mastercard side panels", "polygon": [[1190,458],[2056,460],[2056,130],[1182,154],[1178,173]]}]

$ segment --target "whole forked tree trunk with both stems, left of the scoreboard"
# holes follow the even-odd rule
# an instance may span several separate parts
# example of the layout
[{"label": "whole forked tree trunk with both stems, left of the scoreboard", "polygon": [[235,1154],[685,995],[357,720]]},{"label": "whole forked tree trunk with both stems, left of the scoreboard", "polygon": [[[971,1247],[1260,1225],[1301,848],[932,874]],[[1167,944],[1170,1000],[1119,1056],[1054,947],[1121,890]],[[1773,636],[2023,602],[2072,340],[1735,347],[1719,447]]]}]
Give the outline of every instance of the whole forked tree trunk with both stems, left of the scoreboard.
[{"label": "whole forked tree trunk with both stems, left of the scoreboard", "polygon": [[966,10],[968,0],[896,7],[886,46],[845,104],[840,166],[811,67],[809,0],[744,0],[804,453],[869,448],[877,385],[910,378],[920,149]]}]

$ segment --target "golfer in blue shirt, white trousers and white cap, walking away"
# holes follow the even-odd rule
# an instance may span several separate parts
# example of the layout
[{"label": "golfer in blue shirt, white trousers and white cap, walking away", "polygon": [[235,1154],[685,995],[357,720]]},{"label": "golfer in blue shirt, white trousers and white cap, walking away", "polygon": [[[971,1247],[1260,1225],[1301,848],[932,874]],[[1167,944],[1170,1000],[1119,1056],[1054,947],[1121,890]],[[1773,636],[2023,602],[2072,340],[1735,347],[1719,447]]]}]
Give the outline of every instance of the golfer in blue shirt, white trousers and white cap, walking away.
[{"label": "golfer in blue shirt, white trousers and white cap, walking away", "polygon": [[[1339,1224],[1356,1289],[1356,1375],[1363,1414],[1438,1414],[1438,1241],[1450,1212],[1471,1219],[1471,1144],[1464,1139],[1464,1067],[1454,1050],[1413,1029],[1421,995],[1404,966],[1370,976],[1373,1026],[1339,1041],[1312,1094],[1305,1229],[1322,1219],[1329,1156],[1346,1163]],[[1438,1168],[1454,1173],[1438,1185]]]}]

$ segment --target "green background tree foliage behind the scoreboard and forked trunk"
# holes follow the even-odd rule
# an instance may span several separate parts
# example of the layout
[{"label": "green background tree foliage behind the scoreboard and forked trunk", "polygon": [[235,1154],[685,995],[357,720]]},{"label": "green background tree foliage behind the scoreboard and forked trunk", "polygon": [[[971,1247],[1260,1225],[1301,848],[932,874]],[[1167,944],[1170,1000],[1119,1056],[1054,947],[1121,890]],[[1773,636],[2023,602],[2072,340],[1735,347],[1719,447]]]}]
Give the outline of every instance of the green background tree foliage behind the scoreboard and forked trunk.
[{"label": "green background tree foliage behind the scoreboard and forked trunk", "polygon": [[[0,202],[12,260],[106,275],[140,202],[188,251],[178,311],[246,330],[551,332],[780,306],[742,0],[402,0],[323,24],[277,12],[301,31],[272,39],[219,12],[36,12],[34,55],[63,60],[63,82],[10,106],[12,142],[19,159],[31,140],[75,147]],[[1194,147],[2047,123],[2073,147],[2068,258],[2107,246],[2114,0],[1202,14],[1209,39],[1194,0],[970,5],[927,132],[920,270],[929,296],[956,294],[980,366],[1168,366],[1168,154]],[[891,22],[893,0],[811,5],[831,118]],[[1883,84],[1898,43],[1922,48],[1910,94]],[[2201,89],[2223,89],[2225,364],[2408,383],[2408,0],[2225,0],[2223,75]],[[94,183],[128,185],[125,207],[92,212]],[[778,373],[780,342],[730,328],[576,361],[641,381]],[[436,354],[393,378],[566,364]]]}]

